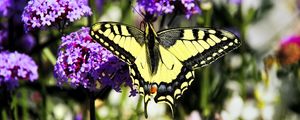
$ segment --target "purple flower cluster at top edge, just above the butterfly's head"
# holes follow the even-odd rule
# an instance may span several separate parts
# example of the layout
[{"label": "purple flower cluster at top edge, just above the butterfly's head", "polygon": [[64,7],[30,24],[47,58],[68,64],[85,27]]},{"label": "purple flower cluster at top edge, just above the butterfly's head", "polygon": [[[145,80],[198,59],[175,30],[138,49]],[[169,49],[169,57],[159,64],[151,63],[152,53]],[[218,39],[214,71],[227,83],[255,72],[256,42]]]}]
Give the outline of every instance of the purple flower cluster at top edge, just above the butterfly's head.
[{"label": "purple flower cluster at top edge, just above the butterfly's head", "polygon": [[[200,13],[200,8],[195,2],[195,0],[137,0],[137,8],[152,15],[172,13],[175,9],[180,9],[189,19],[191,15]],[[176,8],[177,6],[183,6],[183,8]]]}]

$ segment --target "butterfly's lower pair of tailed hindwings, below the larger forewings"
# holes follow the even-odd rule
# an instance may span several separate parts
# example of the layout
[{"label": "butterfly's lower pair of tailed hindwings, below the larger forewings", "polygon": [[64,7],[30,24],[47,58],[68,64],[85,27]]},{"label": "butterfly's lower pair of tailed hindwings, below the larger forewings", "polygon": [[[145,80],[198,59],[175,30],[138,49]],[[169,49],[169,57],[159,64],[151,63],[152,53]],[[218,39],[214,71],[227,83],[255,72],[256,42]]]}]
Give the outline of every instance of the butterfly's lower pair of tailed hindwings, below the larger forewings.
[{"label": "butterfly's lower pair of tailed hindwings, below the larger forewings", "polygon": [[[158,62],[157,71],[155,74],[150,74],[149,65],[145,63],[146,56],[139,56],[135,62],[137,70],[141,72],[142,78],[140,81],[139,91],[143,91],[145,106],[153,96],[157,103],[167,103],[171,110],[176,99],[178,99],[188,86],[194,80],[194,72],[192,69],[186,68],[183,64],[163,46],[159,46],[160,60]],[[146,67],[145,67],[146,66]],[[155,86],[157,91],[151,93],[151,87]],[[145,110],[147,110],[145,108]],[[172,112],[173,113],[173,112]]]}]

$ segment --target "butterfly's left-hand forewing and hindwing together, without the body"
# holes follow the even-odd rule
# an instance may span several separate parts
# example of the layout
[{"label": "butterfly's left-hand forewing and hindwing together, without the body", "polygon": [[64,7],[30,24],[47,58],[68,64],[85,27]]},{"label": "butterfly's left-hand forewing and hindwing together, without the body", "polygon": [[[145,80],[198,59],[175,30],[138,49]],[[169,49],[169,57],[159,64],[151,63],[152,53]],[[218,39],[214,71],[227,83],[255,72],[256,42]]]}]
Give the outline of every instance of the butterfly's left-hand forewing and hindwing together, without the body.
[{"label": "butterfly's left-hand forewing and hindwing together, without the body", "polygon": [[144,32],[136,27],[115,23],[99,22],[92,26],[90,35],[94,40],[107,48],[121,60],[127,62],[130,68],[130,76],[140,94],[144,94],[144,81],[149,80],[147,69],[138,69],[135,62],[144,68],[147,65]]}]

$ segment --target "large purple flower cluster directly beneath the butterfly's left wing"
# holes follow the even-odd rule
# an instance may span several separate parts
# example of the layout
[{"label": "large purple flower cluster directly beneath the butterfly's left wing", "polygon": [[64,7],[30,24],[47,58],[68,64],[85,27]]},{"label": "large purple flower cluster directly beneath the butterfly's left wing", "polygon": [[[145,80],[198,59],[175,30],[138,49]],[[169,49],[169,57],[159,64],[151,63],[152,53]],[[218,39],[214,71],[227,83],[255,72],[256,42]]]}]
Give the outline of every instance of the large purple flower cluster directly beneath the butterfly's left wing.
[{"label": "large purple flower cluster directly beneath the butterfly's left wing", "polygon": [[[89,35],[89,28],[62,37],[54,76],[58,85],[69,83],[89,90],[111,86],[120,91],[120,85],[132,87],[126,63],[120,61]],[[99,86],[100,85],[100,86]]]}]

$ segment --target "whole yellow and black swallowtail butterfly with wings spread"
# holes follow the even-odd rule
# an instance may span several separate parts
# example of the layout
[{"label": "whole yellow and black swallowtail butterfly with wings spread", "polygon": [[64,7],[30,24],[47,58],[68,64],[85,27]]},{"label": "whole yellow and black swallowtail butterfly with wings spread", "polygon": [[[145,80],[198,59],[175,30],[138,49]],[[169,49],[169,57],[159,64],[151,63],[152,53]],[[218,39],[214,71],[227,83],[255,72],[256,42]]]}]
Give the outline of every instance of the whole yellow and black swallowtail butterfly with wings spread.
[{"label": "whole yellow and black swallowtail butterfly with wings spread", "polygon": [[155,32],[116,23],[99,22],[90,35],[128,63],[134,85],[144,96],[145,116],[151,98],[166,102],[173,112],[177,100],[195,78],[196,68],[210,64],[237,48],[241,41],[232,33],[211,28],[174,28]]}]

